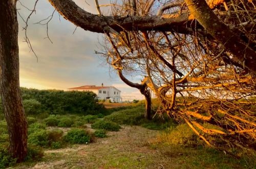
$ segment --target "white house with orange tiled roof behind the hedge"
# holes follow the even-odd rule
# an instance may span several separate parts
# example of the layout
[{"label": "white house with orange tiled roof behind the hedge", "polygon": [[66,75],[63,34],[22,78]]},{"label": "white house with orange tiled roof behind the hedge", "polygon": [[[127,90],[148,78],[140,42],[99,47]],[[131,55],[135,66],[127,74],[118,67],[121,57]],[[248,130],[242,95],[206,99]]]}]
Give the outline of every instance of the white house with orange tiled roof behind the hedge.
[{"label": "white house with orange tiled roof behind the hedge", "polygon": [[111,102],[122,102],[122,98],[120,96],[121,91],[115,88],[114,86],[95,86],[95,85],[86,85],[80,87],[68,88],[68,90],[76,90],[76,91],[92,91],[97,94],[98,99],[107,100],[110,99]]}]

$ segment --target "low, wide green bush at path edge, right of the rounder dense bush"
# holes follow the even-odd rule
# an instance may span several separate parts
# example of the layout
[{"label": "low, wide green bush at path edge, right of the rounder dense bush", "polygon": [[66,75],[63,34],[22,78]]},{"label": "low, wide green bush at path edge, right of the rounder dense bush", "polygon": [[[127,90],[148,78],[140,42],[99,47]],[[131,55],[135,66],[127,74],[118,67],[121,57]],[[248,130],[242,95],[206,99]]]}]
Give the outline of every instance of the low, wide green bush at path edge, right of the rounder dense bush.
[{"label": "low, wide green bush at path edge, right of the rounder dense bush", "polygon": [[118,124],[105,120],[98,120],[97,122],[92,124],[91,127],[93,129],[105,129],[108,131],[119,131],[119,129],[121,128]]}]

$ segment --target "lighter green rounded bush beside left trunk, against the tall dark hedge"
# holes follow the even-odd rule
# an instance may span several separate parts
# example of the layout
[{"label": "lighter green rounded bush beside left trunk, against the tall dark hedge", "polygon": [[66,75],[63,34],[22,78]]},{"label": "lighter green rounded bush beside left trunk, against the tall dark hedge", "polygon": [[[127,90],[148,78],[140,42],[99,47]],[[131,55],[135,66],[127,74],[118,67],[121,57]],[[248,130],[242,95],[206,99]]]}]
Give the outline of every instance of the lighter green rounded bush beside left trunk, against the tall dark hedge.
[{"label": "lighter green rounded bush beside left trunk, against the tall dark hedge", "polygon": [[28,100],[23,100],[23,106],[25,113],[28,114],[38,114],[40,113],[40,106],[41,103],[38,102],[35,99],[28,99]]}]

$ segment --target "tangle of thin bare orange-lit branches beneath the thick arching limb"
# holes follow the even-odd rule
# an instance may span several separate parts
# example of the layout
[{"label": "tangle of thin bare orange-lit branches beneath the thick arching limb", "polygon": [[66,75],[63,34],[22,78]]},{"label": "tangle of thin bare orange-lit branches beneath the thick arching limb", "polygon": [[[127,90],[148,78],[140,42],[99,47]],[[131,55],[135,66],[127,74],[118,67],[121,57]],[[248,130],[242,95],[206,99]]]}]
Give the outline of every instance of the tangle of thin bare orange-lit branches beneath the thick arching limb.
[{"label": "tangle of thin bare orange-lit branches beneath the thick arching limb", "polygon": [[[253,1],[209,0],[207,3],[255,51]],[[254,73],[227,50],[226,44],[207,33],[183,1],[123,1],[112,7],[114,16],[170,18],[183,13],[189,15],[186,31],[123,29],[106,33],[102,55],[119,75],[140,76],[144,88],[154,92],[165,112],[187,123],[208,146],[229,153],[229,148],[247,152],[255,149]],[[130,86],[136,87],[132,82]]]}]

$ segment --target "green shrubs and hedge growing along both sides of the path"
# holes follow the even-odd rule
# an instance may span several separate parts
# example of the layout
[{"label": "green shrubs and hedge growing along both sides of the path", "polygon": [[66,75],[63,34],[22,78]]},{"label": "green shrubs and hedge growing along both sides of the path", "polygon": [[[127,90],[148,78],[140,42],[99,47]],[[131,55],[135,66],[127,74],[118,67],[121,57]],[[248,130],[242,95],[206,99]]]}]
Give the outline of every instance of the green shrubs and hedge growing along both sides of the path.
[{"label": "green shrubs and hedge growing along both sides of the path", "polygon": [[[164,115],[165,113],[155,115],[156,111],[159,110],[159,103],[156,100],[153,100],[152,107],[152,115],[155,116],[153,120],[147,120],[144,118],[143,101],[133,104],[133,106],[106,110],[102,105],[97,104],[95,95],[90,92],[79,93],[25,88],[23,88],[23,98],[29,124],[29,152],[26,157],[28,163],[41,160],[41,157],[44,156],[44,150],[72,147],[72,144],[77,143],[89,144],[94,142],[95,139],[109,137],[109,132],[119,131],[123,125],[136,125],[161,131],[155,142],[150,144],[151,149],[172,149],[174,153],[179,151],[179,153],[184,154],[193,151],[199,157],[206,158],[207,156],[208,163],[212,166],[221,159],[227,160],[229,158],[232,159],[229,160],[230,165],[236,164],[244,168],[254,165],[254,162],[250,159],[252,157],[243,156],[238,160],[206,148],[205,143],[186,124],[177,124],[172,118]],[[51,98],[54,99],[54,102],[50,101]],[[84,100],[81,101],[82,99]],[[81,103],[76,103],[78,100]],[[84,105],[80,105],[82,103]],[[49,107],[47,107],[48,105]],[[1,106],[0,109],[2,109]],[[248,109],[251,109],[251,107],[248,107]],[[89,126],[95,130],[89,130]],[[214,129],[213,126],[205,127]],[[16,161],[8,153],[8,142],[7,125],[3,111],[0,110],[0,168],[12,166]],[[236,150],[234,149],[234,151]],[[201,166],[200,160],[197,158],[189,157],[185,160],[190,161],[193,166],[197,161],[199,164],[195,164],[195,166]],[[229,168],[229,164],[225,164],[225,161],[222,160],[221,163]]]}]

